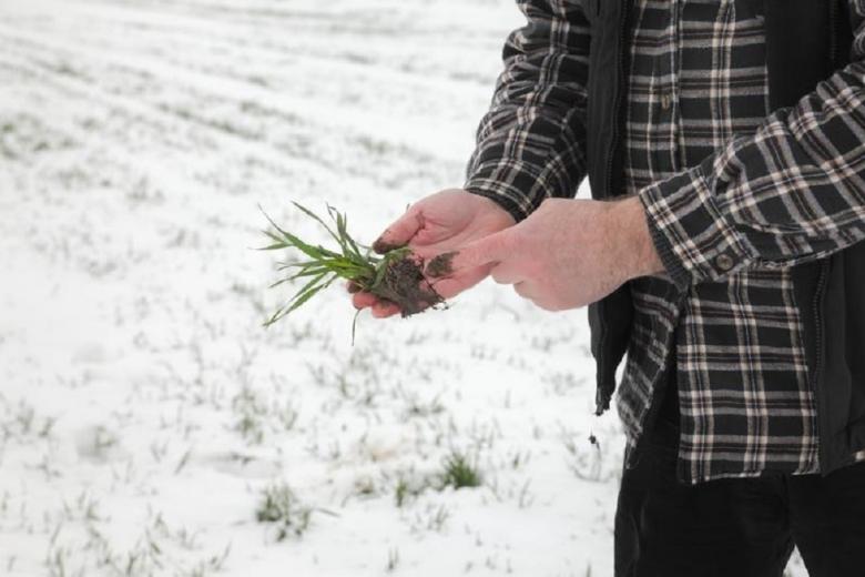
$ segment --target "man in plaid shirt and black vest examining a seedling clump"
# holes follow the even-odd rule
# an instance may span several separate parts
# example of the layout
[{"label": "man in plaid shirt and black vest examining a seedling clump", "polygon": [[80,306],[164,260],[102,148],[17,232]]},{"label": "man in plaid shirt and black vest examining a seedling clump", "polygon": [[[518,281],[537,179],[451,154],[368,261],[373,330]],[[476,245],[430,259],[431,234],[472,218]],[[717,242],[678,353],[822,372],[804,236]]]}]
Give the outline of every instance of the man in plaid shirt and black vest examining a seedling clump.
[{"label": "man in plaid shirt and black vest examining a seedling clump", "polygon": [[464,189],[378,246],[590,305],[599,412],[627,347],[617,576],[865,575],[865,0],[517,3]]}]

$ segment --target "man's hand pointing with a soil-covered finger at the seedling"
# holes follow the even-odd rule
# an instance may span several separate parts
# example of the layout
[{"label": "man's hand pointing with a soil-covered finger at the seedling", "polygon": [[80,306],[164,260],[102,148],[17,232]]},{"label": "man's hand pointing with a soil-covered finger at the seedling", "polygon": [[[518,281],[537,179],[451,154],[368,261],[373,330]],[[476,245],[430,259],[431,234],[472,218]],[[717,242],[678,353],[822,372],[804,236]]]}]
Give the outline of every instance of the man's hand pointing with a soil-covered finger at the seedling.
[{"label": "man's hand pointing with a soil-covered finger at the seedling", "polygon": [[[664,271],[635,196],[547,199],[525,221],[461,246],[449,260],[452,272],[444,279],[489,270],[497,283],[512,284],[548,311],[584,306],[630,279]],[[427,276],[440,276],[435,273],[427,266]]]}]

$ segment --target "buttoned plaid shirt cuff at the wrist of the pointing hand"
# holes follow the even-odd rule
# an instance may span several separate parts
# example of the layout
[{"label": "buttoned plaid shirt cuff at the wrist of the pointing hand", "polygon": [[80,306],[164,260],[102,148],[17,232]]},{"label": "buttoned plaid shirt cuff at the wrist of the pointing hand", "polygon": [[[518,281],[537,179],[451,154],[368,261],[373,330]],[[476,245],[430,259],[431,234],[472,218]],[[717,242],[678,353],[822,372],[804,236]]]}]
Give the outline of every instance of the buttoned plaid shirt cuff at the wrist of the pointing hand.
[{"label": "buttoned plaid shirt cuff at the wrist of the pointing hand", "polygon": [[638,192],[652,243],[680,290],[746,267],[755,251],[723,214],[703,164]]}]

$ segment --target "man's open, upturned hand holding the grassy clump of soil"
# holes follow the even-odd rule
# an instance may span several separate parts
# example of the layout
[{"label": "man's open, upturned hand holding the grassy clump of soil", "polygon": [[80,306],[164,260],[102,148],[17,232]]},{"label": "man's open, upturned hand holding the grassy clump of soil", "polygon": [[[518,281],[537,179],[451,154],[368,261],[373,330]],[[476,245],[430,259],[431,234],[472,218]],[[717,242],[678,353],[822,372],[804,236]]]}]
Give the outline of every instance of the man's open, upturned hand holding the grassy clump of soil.
[{"label": "man's open, upturned hand holding the grassy clump of soil", "polygon": [[[408,211],[385,230],[373,244],[383,254],[388,250],[408,244],[413,252],[424,260],[436,254],[454,251],[460,246],[502,231],[515,223],[513,217],[493,201],[459,189],[445,190],[426,196],[409,206]],[[444,298],[450,298],[482,281],[491,265],[465,266],[446,281],[436,283],[435,288]],[[368,292],[355,292],[352,301],[357,308],[370,306],[373,316],[395,315],[399,308],[376,298]]]}]

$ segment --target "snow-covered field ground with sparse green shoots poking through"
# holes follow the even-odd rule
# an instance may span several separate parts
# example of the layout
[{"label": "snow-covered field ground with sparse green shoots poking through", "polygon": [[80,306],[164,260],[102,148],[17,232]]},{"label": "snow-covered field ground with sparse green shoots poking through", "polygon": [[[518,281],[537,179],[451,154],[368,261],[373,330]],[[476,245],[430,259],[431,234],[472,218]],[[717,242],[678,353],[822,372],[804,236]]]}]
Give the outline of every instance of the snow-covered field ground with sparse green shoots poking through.
[{"label": "snow-covered field ground with sparse green shoots poking through", "polygon": [[[459,185],[510,0],[0,2],[0,574],[612,575],[584,311],[487,283],[350,345],[262,204]],[[600,439],[600,451],[588,438]],[[438,487],[465,455],[476,488]],[[266,492],[293,492],[261,523]],[[304,526],[304,509],[311,512]],[[297,524],[303,530],[297,535]]]}]

